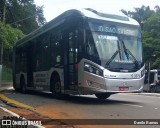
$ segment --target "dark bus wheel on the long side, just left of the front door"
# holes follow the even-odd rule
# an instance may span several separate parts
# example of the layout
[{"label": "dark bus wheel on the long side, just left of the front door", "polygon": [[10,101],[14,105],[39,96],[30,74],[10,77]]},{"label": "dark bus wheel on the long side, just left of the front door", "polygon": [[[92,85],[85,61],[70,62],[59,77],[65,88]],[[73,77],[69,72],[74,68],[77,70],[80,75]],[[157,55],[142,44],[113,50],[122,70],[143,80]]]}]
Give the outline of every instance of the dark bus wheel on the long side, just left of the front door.
[{"label": "dark bus wheel on the long side, just left of the front door", "polygon": [[61,82],[58,76],[51,79],[51,91],[53,95],[61,94]]}]

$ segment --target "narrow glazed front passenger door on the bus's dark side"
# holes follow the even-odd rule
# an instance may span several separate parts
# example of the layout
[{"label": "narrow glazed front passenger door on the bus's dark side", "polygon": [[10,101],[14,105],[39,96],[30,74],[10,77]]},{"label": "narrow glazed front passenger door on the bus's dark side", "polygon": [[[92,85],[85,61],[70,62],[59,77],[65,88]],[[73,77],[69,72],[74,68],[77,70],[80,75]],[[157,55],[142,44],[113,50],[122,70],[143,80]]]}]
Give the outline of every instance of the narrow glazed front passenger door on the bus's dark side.
[{"label": "narrow glazed front passenger door on the bus's dark side", "polygon": [[78,65],[77,65],[77,45],[78,31],[71,31],[68,33],[68,48],[67,48],[67,88],[69,90],[76,90],[78,83]]}]

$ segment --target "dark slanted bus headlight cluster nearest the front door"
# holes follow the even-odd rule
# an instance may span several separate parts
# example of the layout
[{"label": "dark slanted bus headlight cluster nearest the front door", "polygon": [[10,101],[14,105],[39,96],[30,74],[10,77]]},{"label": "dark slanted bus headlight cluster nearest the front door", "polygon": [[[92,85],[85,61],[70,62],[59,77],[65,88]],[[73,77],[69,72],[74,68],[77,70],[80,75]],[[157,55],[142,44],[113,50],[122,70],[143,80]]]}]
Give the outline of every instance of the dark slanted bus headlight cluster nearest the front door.
[{"label": "dark slanted bus headlight cluster nearest the front door", "polygon": [[99,76],[103,76],[103,70],[91,65],[91,64],[87,64],[84,63],[84,70]]}]

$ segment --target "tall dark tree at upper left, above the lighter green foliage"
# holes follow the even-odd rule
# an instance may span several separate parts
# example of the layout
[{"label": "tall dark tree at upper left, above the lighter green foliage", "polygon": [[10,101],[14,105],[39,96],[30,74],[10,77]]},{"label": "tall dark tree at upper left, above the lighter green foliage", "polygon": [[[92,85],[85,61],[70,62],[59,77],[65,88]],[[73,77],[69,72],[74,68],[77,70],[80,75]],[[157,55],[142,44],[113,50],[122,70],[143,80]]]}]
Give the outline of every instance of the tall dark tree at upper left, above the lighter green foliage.
[{"label": "tall dark tree at upper left, above the lighter green foliage", "polygon": [[[5,2],[5,23],[19,28],[28,34],[39,26],[44,25],[46,20],[43,15],[43,6],[36,6],[34,0],[0,0]],[[0,18],[4,17],[3,5],[0,5]]]}]

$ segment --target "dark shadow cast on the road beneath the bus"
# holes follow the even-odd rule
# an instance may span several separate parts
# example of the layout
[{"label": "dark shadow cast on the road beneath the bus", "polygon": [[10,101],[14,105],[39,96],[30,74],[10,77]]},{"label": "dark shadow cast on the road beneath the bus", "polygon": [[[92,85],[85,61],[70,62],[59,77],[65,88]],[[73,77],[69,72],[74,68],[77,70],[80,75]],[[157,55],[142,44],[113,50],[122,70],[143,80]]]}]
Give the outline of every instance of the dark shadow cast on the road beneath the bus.
[{"label": "dark shadow cast on the road beneath the bus", "polygon": [[[133,101],[126,101],[125,99],[112,99],[110,97],[109,99],[101,100],[94,95],[86,95],[86,96],[74,96],[74,95],[60,95],[60,96],[55,96],[52,95],[51,93],[44,93],[44,92],[37,92],[37,91],[28,91],[27,94],[22,94],[20,92],[16,92],[14,89],[11,90],[4,90],[3,93],[5,94],[18,94],[20,96],[22,95],[34,95],[38,96],[39,98],[47,98],[47,99],[53,99],[53,100],[60,100],[60,101],[65,101],[67,103],[72,103],[72,104],[84,104],[84,105],[113,105],[113,104],[136,104],[136,105],[141,105],[139,102],[133,102]],[[113,94],[117,95],[117,94]],[[10,97],[11,98],[11,97]],[[34,98],[34,97],[33,97]],[[16,99],[18,100],[18,99]]]}]

